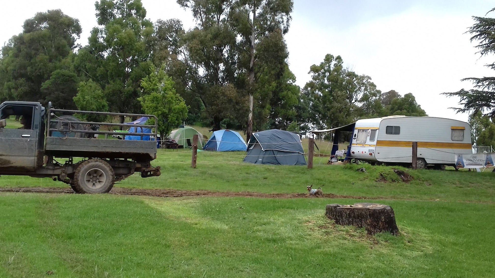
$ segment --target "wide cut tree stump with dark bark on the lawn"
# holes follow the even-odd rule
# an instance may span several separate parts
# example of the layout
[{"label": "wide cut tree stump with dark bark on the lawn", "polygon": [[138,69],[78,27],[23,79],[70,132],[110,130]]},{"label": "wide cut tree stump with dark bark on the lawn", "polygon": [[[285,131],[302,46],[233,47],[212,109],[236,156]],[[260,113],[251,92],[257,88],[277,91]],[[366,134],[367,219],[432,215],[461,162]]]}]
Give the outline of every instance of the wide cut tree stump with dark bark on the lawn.
[{"label": "wide cut tree stump with dark bark on the lawn", "polygon": [[399,234],[394,210],[384,204],[327,204],[326,216],[339,225],[365,228],[370,235],[380,232],[389,232],[395,236]]}]

